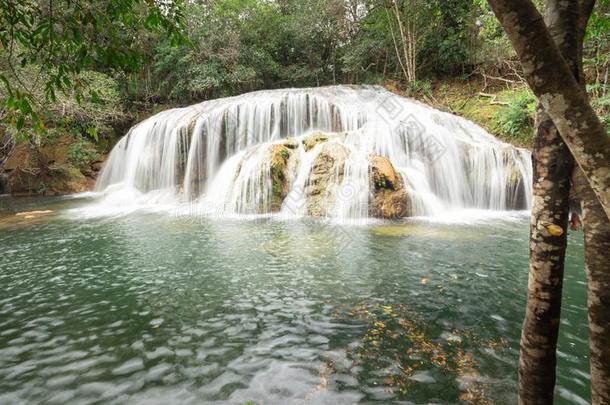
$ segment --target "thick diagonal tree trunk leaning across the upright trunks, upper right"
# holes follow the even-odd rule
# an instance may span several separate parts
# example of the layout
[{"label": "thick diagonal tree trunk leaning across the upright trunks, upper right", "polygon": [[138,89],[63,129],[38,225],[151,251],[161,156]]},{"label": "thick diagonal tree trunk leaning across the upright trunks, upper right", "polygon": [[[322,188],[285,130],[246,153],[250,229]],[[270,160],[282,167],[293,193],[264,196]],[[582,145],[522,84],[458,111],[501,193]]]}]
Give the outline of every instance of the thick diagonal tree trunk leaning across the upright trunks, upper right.
[{"label": "thick diagonal tree trunk leaning across the upright trunks, upper right", "polygon": [[517,52],[529,87],[552,118],[610,218],[610,137],[584,89],[530,0],[488,3]]}]

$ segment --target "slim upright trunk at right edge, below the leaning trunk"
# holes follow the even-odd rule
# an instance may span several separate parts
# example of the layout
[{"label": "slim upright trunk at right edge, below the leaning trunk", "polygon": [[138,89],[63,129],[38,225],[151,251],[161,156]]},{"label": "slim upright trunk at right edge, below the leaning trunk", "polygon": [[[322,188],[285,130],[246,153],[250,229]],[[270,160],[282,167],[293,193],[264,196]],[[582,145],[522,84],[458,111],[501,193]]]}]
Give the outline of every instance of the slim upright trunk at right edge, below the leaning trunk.
[{"label": "slim upright trunk at right edge, below the leaning trunk", "polygon": [[610,404],[610,221],[582,172],[574,177],[585,234],[591,403],[607,405]]}]

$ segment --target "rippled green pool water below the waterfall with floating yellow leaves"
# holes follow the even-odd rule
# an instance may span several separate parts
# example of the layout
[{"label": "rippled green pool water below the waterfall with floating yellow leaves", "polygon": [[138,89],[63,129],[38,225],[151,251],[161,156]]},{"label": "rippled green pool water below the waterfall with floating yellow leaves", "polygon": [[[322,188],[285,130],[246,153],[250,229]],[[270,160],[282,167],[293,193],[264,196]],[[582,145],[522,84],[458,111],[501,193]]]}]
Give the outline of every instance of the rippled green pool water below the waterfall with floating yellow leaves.
[{"label": "rippled green pool water below the waterfall with floating yellow leaves", "polygon": [[[1,404],[516,402],[524,216],[346,227],[0,204]],[[559,404],[589,399],[581,237]]]}]

